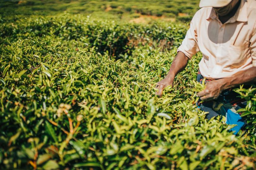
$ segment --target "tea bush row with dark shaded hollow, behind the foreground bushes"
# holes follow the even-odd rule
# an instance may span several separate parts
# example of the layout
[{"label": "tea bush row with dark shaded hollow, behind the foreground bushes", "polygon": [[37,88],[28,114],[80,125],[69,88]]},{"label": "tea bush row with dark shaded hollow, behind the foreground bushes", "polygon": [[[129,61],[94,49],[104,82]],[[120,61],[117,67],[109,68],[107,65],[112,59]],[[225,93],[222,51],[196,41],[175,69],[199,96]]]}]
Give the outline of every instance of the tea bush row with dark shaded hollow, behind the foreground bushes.
[{"label": "tea bush row with dark shaded hollow, behind the foreground bushes", "polygon": [[40,37],[47,39],[49,45],[55,41],[65,44],[72,42],[77,44],[74,49],[87,46],[88,50],[95,48],[100,53],[110,52],[112,49],[113,56],[117,57],[125,51],[132,50],[135,45],[152,44],[153,41],[166,40],[169,46],[178,46],[187,28],[187,24],[181,23],[156,22],[143,26],[115,21],[96,21],[89,17],[69,14],[51,18],[18,19],[15,23],[12,19],[7,19],[0,25],[0,37],[8,37],[11,41]]}]

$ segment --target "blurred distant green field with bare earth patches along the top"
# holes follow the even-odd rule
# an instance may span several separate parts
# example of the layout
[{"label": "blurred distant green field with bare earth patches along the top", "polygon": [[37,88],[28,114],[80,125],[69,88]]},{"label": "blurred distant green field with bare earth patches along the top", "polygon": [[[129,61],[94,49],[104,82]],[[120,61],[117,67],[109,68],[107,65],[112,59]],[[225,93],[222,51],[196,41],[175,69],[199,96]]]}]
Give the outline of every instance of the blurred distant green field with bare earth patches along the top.
[{"label": "blurred distant green field with bare earth patches along the top", "polygon": [[[0,0],[2,15],[92,15],[93,18],[130,20],[140,15],[188,21],[199,9],[197,0]],[[15,9],[15,10],[13,10]],[[179,15],[182,14],[182,15]]]}]

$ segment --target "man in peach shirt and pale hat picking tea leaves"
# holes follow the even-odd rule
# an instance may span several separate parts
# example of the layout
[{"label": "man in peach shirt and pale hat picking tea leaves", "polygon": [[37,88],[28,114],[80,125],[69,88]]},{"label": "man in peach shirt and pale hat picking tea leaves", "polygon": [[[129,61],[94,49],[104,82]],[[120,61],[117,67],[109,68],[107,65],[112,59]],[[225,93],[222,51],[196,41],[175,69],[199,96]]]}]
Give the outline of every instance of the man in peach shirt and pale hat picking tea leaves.
[{"label": "man in peach shirt and pale hat picking tea leaves", "polygon": [[243,103],[230,88],[256,80],[256,0],[201,0],[199,6],[167,76],[157,83],[157,95],[173,86],[175,76],[201,51],[197,80],[207,83],[197,94],[203,101],[198,105],[209,112],[208,119],[226,116],[237,134],[245,124],[236,113]]}]

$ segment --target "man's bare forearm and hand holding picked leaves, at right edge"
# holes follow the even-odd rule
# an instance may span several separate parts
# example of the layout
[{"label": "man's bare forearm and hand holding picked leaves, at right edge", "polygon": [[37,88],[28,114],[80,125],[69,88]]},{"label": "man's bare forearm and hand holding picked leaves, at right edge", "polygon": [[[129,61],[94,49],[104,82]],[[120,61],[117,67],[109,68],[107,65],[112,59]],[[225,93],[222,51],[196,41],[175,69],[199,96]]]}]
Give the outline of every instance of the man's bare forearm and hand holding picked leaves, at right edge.
[{"label": "man's bare forearm and hand holding picked leaves, at right edge", "polygon": [[246,84],[256,81],[256,67],[239,72],[236,76],[213,80],[205,85],[205,89],[197,93],[201,100],[217,99],[222,91],[236,87],[240,84]]}]

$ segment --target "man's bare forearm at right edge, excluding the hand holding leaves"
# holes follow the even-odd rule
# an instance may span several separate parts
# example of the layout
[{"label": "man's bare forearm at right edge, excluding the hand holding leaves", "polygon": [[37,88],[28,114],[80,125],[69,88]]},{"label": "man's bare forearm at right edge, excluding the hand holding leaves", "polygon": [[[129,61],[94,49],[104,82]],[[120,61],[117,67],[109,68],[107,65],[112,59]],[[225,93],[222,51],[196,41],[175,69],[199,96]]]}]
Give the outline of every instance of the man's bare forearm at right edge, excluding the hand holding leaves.
[{"label": "man's bare forearm at right edge, excluding the hand holding leaves", "polygon": [[256,81],[256,67],[249,68],[248,70],[241,71],[233,77],[219,79],[222,84],[222,90],[226,90],[231,87],[236,87],[240,84]]}]

